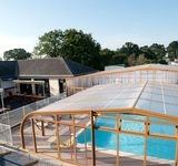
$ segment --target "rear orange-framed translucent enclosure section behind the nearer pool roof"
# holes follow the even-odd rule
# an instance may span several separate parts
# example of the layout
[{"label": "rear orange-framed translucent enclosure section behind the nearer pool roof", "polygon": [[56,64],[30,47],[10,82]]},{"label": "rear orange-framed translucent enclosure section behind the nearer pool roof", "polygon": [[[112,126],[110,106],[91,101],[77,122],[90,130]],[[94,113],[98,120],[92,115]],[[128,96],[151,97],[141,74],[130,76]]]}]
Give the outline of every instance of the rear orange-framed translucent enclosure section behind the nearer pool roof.
[{"label": "rear orange-framed translucent enclosure section behind the nearer pool roof", "polygon": [[154,81],[161,83],[178,83],[178,66],[146,64],[102,71],[93,74],[68,77],[67,96],[98,84],[118,84],[138,81]]}]

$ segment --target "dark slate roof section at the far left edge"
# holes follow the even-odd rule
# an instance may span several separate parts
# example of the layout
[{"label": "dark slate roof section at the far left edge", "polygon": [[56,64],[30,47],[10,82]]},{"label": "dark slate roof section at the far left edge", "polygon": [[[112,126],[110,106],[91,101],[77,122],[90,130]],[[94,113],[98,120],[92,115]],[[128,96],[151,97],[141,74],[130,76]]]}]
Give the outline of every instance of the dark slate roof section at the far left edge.
[{"label": "dark slate roof section at the far left edge", "polygon": [[16,76],[16,61],[0,61],[0,77]]}]

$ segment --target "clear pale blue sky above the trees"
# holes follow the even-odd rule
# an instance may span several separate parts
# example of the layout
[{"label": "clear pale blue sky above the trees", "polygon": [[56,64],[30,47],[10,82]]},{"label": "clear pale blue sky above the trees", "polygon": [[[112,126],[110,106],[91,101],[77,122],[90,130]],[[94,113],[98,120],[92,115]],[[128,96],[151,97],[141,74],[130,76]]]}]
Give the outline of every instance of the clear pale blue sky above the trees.
[{"label": "clear pale blue sky above the trees", "polygon": [[32,52],[55,29],[91,33],[101,49],[168,46],[178,40],[177,7],[178,0],[0,0],[0,56],[19,48]]}]

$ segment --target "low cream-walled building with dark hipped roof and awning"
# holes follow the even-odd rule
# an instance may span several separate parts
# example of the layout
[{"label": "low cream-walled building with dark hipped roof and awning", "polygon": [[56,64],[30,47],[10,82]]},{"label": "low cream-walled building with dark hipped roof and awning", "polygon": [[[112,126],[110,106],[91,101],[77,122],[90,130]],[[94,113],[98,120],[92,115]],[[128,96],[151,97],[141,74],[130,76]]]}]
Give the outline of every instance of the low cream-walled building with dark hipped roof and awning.
[{"label": "low cream-walled building with dark hipped roof and awning", "polygon": [[[44,93],[52,96],[65,92],[66,77],[97,72],[65,58],[1,61],[0,66],[0,85],[4,89],[4,96],[8,90],[14,93],[13,80],[44,81]],[[16,92],[43,93],[41,85],[31,84],[16,84]]]}]

